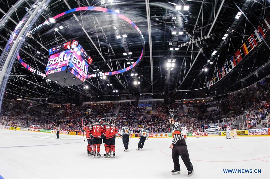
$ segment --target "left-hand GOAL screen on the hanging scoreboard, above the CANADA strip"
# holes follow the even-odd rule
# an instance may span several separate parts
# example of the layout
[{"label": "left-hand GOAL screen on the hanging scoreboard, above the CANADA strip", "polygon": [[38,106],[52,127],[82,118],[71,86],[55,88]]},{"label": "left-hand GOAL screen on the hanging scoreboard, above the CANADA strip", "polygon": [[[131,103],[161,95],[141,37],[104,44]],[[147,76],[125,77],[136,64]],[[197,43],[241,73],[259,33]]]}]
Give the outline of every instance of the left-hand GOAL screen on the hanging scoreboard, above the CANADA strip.
[{"label": "left-hand GOAL screen on the hanging scoreboard, above the CANADA strip", "polygon": [[46,67],[46,72],[52,69],[61,68],[63,66],[68,66],[68,61],[70,59],[72,50],[62,51],[57,54],[53,54],[49,57],[48,64]]}]

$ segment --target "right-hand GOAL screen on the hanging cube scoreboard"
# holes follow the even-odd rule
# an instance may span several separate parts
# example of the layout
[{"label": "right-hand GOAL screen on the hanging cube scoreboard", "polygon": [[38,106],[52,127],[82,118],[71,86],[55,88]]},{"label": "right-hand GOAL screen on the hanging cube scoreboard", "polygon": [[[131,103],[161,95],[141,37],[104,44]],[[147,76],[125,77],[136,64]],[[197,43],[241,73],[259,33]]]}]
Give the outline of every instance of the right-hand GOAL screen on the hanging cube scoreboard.
[{"label": "right-hand GOAL screen on the hanging cube scoreboard", "polygon": [[75,72],[77,72],[83,79],[86,79],[88,72],[88,63],[80,56],[80,51],[74,51],[71,56],[69,65]]}]

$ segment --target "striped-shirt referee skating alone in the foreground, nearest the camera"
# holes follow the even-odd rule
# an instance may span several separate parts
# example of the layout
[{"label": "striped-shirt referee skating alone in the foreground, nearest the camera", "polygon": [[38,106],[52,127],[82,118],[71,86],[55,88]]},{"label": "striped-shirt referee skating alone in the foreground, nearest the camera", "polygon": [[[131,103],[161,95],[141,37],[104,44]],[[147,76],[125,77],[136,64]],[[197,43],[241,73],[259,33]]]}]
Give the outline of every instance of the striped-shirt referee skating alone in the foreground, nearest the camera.
[{"label": "striped-shirt referee skating alone in the foreground, nearest the camera", "polygon": [[179,164],[179,155],[183,160],[185,166],[187,167],[187,174],[191,176],[194,172],[192,163],[190,162],[190,156],[187,151],[187,144],[182,134],[182,128],[178,121],[177,113],[172,113],[169,116],[169,123],[172,126],[172,142],[171,142],[171,157],[174,163],[174,169],[171,171],[171,174],[179,174],[180,172],[180,164]]}]

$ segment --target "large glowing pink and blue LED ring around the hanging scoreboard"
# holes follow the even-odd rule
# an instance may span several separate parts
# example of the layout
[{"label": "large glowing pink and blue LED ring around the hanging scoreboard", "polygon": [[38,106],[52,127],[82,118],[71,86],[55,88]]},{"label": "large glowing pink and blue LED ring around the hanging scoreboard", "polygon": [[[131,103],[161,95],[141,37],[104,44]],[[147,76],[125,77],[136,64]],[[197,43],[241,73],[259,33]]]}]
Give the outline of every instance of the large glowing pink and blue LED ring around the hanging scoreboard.
[{"label": "large glowing pink and blue LED ring around the hanging scoreboard", "polygon": [[[64,16],[66,16],[66,15],[68,15],[70,13],[74,13],[74,12],[78,12],[78,11],[82,11],[82,10],[86,10],[86,11],[92,11],[93,10],[93,11],[107,12],[107,13],[110,13],[110,14],[116,14],[118,17],[120,17],[121,19],[123,19],[126,22],[128,22],[132,26],[132,28],[135,29],[135,32],[139,35],[139,37],[141,39],[142,51],[141,51],[140,57],[138,58],[138,60],[136,60],[135,63],[133,63],[131,66],[129,66],[127,68],[124,68],[124,69],[121,69],[121,70],[117,70],[117,71],[113,71],[113,72],[105,72],[104,75],[116,75],[116,74],[120,74],[120,73],[123,73],[123,72],[127,72],[127,71],[131,70],[133,67],[137,66],[141,62],[141,60],[144,57],[144,53],[145,53],[144,37],[143,37],[140,29],[137,27],[137,25],[135,25],[134,22],[132,22],[129,18],[127,18],[123,14],[117,13],[114,10],[106,9],[106,8],[103,8],[103,7],[93,7],[93,6],[90,7],[90,6],[86,6],[86,7],[77,7],[77,8],[71,9],[71,10],[67,10],[67,11],[65,11],[63,13],[60,13],[60,14],[54,16],[53,19],[59,20],[59,19],[63,18]],[[42,27],[43,25],[45,25],[47,23],[48,23],[48,21],[46,20],[45,22],[43,22],[42,24],[40,24],[38,27],[36,27],[32,31],[30,31],[27,34],[27,36],[30,37],[30,35],[32,34],[32,32],[35,32],[36,30],[38,30],[40,27]],[[18,57],[18,60],[20,61],[20,63],[23,65],[24,62],[20,58],[19,54],[17,54],[17,57]],[[25,65],[23,65],[23,66],[26,67]],[[26,69],[29,70],[29,68],[26,68]],[[41,76],[43,76],[43,75],[41,75]],[[96,77],[95,74],[87,75],[86,78],[92,78],[92,77]]]}]

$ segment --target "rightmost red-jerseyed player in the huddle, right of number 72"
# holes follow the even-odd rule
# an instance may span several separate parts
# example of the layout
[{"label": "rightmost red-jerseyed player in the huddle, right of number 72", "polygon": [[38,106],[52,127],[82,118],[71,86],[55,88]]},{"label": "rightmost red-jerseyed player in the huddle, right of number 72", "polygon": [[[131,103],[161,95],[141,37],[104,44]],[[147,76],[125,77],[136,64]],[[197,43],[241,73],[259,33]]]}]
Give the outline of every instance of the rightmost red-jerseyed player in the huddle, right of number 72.
[{"label": "rightmost red-jerseyed player in the huddle, right of number 72", "polygon": [[110,158],[110,154],[109,154],[110,148],[113,151],[113,157],[115,157],[115,146],[114,146],[115,145],[115,135],[118,133],[118,131],[117,131],[116,125],[113,124],[113,122],[114,122],[114,119],[109,120],[109,124],[107,125],[106,132],[105,132],[105,135],[106,135],[106,143],[105,143],[106,154],[104,155],[104,157],[106,157],[106,158]]}]

